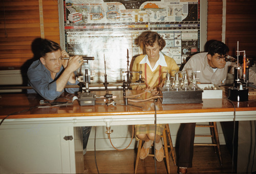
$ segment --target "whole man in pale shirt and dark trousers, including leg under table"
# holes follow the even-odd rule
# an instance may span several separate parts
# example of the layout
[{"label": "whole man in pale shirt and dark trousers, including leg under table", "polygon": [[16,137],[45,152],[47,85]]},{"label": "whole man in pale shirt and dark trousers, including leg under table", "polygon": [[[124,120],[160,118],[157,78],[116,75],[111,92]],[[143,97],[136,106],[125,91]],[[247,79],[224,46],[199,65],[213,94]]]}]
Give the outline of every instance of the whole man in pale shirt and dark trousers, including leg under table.
[{"label": "whole man in pale shirt and dark trousers, including leg under table", "polygon": [[[237,63],[226,62],[225,58],[229,48],[221,41],[210,44],[208,52],[192,56],[185,64],[182,71],[200,71],[196,74],[200,83],[215,83],[225,85],[227,74],[233,74]],[[249,69],[249,82],[256,83],[256,74]],[[186,173],[187,167],[192,167],[196,123],[182,123],[177,139],[179,173]]]}]

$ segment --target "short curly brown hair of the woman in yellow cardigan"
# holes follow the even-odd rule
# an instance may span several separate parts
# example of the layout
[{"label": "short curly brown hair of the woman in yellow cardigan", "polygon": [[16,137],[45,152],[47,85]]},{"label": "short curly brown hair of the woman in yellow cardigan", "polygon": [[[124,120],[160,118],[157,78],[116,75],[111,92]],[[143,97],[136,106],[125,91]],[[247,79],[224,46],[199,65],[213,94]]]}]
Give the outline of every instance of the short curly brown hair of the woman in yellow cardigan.
[{"label": "short curly brown hair of the woman in yellow cardigan", "polygon": [[160,50],[162,50],[165,47],[165,40],[157,33],[154,31],[147,31],[144,32],[140,37],[139,37],[139,44],[140,46],[154,46],[155,42],[158,42],[158,45],[160,46]]}]

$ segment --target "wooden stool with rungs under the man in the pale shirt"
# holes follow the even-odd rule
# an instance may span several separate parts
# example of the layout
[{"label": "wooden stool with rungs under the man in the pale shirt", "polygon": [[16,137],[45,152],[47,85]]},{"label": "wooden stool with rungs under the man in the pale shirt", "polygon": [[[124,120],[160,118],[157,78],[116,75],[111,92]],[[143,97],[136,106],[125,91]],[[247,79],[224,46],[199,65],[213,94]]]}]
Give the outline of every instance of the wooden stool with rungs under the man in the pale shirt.
[{"label": "wooden stool with rungs under the man in the pale shirt", "polygon": [[194,143],[194,146],[214,146],[215,153],[216,146],[218,149],[218,157],[220,160],[220,164],[222,165],[221,160],[221,150],[220,150],[220,141],[219,141],[219,134],[218,134],[218,128],[217,128],[217,122],[209,122],[209,124],[196,124],[196,127],[209,127],[210,128],[210,135],[195,135],[195,137],[211,137],[211,144],[206,143]]}]

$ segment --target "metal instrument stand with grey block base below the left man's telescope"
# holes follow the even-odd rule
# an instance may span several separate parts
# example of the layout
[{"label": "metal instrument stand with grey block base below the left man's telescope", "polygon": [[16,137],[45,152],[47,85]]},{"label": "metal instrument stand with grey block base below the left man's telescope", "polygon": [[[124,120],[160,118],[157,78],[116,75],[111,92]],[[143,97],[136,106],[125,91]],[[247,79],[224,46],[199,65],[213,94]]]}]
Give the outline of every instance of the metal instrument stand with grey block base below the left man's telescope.
[{"label": "metal instrument stand with grey block base below the left man's telescope", "polygon": [[89,60],[94,57],[83,57],[83,64],[77,70],[76,80],[79,81],[78,102],[81,106],[95,105],[96,95],[89,90],[91,83]]}]

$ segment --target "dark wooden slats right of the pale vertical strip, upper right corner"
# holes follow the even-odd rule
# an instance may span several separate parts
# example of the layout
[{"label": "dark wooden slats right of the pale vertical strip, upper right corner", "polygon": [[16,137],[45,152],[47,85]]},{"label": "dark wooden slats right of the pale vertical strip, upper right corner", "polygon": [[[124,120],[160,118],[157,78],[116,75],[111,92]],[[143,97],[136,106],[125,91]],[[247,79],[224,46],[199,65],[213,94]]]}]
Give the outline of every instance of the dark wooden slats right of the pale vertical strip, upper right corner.
[{"label": "dark wooden slats right of the pale vertical strip, upper right corner", "polygon": [[230,55],[237,55],[237,41],[239,41],[239,50],[245,50],[248,58],[256,60],[255,7],[256,1],[253,0],[227,0],[226,44],[230,49]]}]

